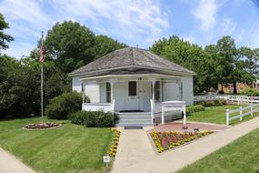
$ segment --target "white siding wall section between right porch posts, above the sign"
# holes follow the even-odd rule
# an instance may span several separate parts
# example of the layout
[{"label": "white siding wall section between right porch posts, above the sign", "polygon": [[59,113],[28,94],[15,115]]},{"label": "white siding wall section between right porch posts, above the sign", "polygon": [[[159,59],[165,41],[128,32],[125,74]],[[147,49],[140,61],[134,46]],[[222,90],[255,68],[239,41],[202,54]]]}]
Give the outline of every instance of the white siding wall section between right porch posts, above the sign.
[{"label": "white siding wall section between right porch posts, above the sign", "polygon": [[176,83],[163,83],[163,101],[179,100],[179,85]]}]

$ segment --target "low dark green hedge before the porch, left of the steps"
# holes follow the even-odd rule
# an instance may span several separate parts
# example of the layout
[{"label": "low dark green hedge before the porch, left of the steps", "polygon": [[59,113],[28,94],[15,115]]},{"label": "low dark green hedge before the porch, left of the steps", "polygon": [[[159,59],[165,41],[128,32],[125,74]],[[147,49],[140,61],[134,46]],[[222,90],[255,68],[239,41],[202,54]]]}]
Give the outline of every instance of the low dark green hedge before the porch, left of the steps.
[{"label": "low dark green hedge before the porch, left of the steps", "polygon": [[118,119],[117,115],[111,112],[103,111],[77,111],[68,117],[76,125],[85,125],[86,127],[113,127]]}]

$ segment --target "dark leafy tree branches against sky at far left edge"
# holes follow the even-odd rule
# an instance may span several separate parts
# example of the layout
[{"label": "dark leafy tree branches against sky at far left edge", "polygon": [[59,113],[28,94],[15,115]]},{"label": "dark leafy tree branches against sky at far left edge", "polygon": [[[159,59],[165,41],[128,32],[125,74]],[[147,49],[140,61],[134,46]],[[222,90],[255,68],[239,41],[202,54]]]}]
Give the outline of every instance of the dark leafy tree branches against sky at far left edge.
[{"label": "dark leafy tree branches against sky at far left edge", "polygon": [[5,22],[4,15],[0,14],[0,51],[1,49],[8,48],[9,46],[7,45],[7,43],[15,40],[13,36],[9,36],[4,33],[4,30],[8,28],[9,25]]}]

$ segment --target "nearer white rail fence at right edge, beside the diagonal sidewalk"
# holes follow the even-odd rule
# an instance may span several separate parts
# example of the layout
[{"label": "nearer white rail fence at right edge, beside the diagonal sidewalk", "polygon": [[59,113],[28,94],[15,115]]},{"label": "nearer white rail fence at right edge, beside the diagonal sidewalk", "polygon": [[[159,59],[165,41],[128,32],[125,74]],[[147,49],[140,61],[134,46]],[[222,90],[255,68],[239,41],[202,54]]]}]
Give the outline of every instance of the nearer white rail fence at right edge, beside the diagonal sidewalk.
[{"label": "nearer white rail fence at right edge, beside the diagonal sidewalk", "polygon": [[[259,104],[254,105],[253,103],[251,103],[251,105],[248,107],[239,107],[234,110],[226,109],[225,110],[225,124],[228,126],[229,121],[238,119],[238,118],[240,120],[243,120],[244,116],[251,115],[251,117],[253,117],[254,112],[259,110],[259,107],[255,108],[256,106],[259,106]],[[236,113],[238,113],[238,115],[231,117],[232,114],[236,114]]]}]

